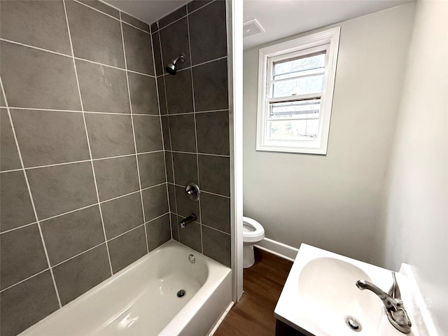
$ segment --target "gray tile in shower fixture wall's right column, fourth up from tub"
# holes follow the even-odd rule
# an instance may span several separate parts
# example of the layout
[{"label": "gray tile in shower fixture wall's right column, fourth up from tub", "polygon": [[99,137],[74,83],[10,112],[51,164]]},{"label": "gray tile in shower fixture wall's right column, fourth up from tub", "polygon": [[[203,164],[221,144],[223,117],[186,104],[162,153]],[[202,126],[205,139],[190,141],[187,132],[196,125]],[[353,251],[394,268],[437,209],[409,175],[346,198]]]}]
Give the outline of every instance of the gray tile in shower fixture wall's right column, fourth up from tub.
[{"label": "gray tile in shower fixture wall's right column, fourth up from tub", "polygon": [[197,151],[199,153],[229,155],[229,113],[196,114]]}]

